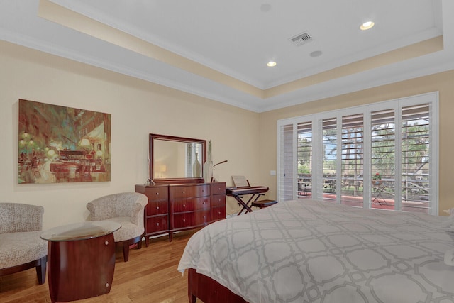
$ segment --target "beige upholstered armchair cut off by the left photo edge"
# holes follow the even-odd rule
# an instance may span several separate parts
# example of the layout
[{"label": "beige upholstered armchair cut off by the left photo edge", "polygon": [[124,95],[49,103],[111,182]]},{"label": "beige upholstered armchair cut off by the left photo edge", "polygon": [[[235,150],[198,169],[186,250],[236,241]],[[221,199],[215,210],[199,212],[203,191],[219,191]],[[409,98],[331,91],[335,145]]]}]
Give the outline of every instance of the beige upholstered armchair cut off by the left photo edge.
[{"label": "beige upholstered armchair cut off by the left photo edge", "polygon": [[36,268],[38,283],[45,282],[48,241],[40,238],[42,206],[0,203],[0,277]]}]

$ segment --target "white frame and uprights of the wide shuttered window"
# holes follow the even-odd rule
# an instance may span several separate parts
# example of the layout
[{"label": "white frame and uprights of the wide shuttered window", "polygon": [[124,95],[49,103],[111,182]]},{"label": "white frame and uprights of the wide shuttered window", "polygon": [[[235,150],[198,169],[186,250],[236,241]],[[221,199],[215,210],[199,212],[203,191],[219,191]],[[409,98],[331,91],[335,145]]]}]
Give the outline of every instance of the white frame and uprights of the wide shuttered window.
[{"label": "white frame and uprights of the wide shuttered window", "polygon": [[[397,126],[402,126],[402,108],[407,106],[414,106],[418,104],[428,104],[429,105],[429,117],[430,117],[430,138],[429,138],[429,158],[430,158],[430,165],[429,165],[429,182],[431,185],[431,192],[429,193],[430,201],[431,201],[431,208],[429,209],[429,214],[438,215],[438,137],[439,137],[439,130],[438,130],[438,92],[429,92],[426,94],[419,94],[410,97],[402,97],[398,99],[392,99],[387,101],[379,101],[372,104],[364,104],[360,106],[353,106],[333,111],[323,111],[314,114],[308,114],[304,116],[297,116],[287,119],[281,119],[277,121],[277,199],[278,200],[286,200],[289,199],[289,189],[288,185],[284,181],[284,178],[289,180],[289,176],[284,176],[284,165],[288,165],[288,163],[284,163],[284,159],[281,156],[283,142],[284,142],[284,134],[282,133],[282,129],[284,127],[289,128],[292,125],[292,153],[293,153],[293,160],[294,167],[292,169],[292,191],[293,197],[292,199],[298,199],[298,167],[297,167],[297,138],[298,138],[298,124],[299,123],[311,123],[313,133],[312,133],[312,197],[314,199],[321,199],[322,192],[320,190],[322,186],[321,182],[323,182],[323,137],[321,136],[322,129],[321,129],[321,121],[324,119],[332,119],[336,118],[337,121],[337,131],[338,134],[340,133],[339,130],[342,129],[342,117],[343,116],[351,116],[354,114],[363,114],[364,117],[364,194],[363,194],[363,208],[371,208],[371,199],[372,199],[372,175],[371,175],[371,161],[372,161],[372,151],[371,151],[371,140],[372,140],[372,129],[371,129],[371,120],[372,120],[372,113],[375,111],[383,111],[387,109],[394,109],[395,111],[395,123],[396,123],[396,130],[398,129]],[[285,135],[287,136],[287,141],[289,137],[289,133]],[[319,138],[319,139],[316,139]],[[336,184],[341,184],[341,140],[340,138],[336,138],[337,143],[337,157],[336,157]],[[402,142],[402,138],[400,138],[400,132],[396,136],[395,141]],[[402,155],[402,146],[400,144],[396,144],[395,154],[399,155],[396,156],[396,172],[395,176],[396,180],[399,177],[399,180],[402,180],[402,165],[401,165],[401,156]],[[287,153],[288,157],[288,153]],[[287,159],[288,162],[288,159]],[[287,168],[287,174],[289,173],[289,169]],[[395,199],[395,204],[397,205],[396,211],[400,211],[401,208],[401,201],[402,201],[402,194],[400,194],[399,190],[402,189],[402,182],[396,182],[396,189],[397,192]],[[283,193],[283,187],[287,185],[286,194]],[[366,203],[369,201],[369,203]],[[341,191],[336,191],[336,203],[341,203]]]}]

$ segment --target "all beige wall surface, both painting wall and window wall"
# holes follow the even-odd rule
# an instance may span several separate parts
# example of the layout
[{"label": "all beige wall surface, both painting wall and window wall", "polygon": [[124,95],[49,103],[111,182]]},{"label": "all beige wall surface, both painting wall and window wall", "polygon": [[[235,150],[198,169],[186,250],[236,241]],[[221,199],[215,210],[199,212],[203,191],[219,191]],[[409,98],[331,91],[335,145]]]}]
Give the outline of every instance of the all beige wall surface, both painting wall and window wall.
[{"label": "all beige wall surface, both painting wall and window wall", "polygon": [[[231,185],[231,175],[245,175],[275,198],[278,119],[433,91],[440,92],[440,210],[454,207],[454,71],[256,114],[6,42],[0,66],[0,201],[44,206],[44,228],[84,221],[90,200],[143,183],[148,133],[211,139],[214,162],[228,160],[214,177]],[[112,114],[111,182],[18,184],[18,99]],[[237,210],[228,198],[227,213]]]}]

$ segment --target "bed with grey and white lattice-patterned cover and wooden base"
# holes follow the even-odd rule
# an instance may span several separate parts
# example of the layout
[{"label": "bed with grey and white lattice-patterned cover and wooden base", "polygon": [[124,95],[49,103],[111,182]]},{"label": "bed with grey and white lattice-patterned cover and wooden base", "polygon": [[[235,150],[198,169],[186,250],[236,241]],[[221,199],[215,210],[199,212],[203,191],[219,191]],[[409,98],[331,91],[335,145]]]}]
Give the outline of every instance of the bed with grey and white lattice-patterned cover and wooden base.
[{"label": "bed with grey and white lattice-patterned cover and wooden base", "polygon": [[197,231],[178,270],[189,302],[454,302],[449,220],[280,202]]}]

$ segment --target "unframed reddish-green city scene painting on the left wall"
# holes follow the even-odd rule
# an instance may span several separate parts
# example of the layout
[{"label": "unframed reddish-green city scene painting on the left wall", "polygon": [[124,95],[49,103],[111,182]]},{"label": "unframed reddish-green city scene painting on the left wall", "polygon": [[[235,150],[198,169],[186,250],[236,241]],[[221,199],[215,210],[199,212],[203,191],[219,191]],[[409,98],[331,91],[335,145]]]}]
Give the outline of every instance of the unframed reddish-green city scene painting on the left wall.
[{"label": "unframed reddish-green city scene painting on the left wall", "polygon": [[111,114],[19,99],[18,183],[111,180]]}]

